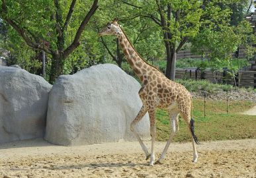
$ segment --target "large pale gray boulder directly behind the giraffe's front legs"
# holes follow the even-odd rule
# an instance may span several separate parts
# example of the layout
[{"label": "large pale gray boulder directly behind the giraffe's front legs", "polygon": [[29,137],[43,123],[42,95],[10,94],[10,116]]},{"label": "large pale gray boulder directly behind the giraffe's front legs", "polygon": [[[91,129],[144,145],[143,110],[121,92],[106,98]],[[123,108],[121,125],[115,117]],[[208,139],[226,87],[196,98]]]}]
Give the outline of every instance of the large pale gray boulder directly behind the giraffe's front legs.
[{"label": "large pale gray boulder directly behind the giraffe's front legs", "polygon": [[[78,145],[135,140],[130,123],[142,102],[140,84],[116,65],[96,65],[59,76],[49,96],[46,140]],[[149,117],[137,127],[149,136]]]}]

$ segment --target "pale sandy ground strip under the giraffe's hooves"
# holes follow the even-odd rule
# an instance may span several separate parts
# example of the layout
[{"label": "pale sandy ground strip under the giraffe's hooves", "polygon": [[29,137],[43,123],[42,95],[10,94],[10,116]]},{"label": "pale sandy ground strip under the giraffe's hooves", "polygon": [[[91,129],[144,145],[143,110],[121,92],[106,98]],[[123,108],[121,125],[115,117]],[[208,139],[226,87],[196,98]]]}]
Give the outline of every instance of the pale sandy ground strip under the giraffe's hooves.
[{"label": "pale sandy ground strip under the giraffe's hooves", "polygon": [[[149,147],[150,142],[146,142]],[[156,143],[157,158],[164,142]],[[150,167],[138,142],[56,146],[42,139],[1,144],[0,177],[256,177],[256,140],[171,143]]]}]

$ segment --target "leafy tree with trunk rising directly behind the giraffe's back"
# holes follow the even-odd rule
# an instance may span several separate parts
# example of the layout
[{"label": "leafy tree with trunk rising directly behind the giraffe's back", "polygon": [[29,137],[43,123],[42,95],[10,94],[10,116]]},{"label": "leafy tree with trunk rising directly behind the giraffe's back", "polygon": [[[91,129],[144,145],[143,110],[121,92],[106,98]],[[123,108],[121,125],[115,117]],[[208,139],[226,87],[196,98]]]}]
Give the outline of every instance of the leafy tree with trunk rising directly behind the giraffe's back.
[{"label": "leafy tree with trunk rising directly behind the giraffe's back", "polygon": [[[124,1],[127,3],[127,1]],[[232,1],[222,1],[226,5]],[[176,53],[202,29],[229,20],[230,9],[220,7],[219,1],[147,0],[128,3],[134,7],[134,17],[149,18],[161,27],[167,69],[165,75],[174,80]]]}]

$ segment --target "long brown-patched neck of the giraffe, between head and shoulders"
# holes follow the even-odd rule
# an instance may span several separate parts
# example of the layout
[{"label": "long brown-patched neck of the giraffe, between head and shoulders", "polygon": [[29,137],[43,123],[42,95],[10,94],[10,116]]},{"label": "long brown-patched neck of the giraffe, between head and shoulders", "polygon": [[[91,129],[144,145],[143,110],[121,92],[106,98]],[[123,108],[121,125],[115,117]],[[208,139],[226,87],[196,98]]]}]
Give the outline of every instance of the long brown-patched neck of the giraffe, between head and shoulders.
[{"label": "long brown-patched neck of the giraffe, between head and shoulders", "polygon": [[142,80],[143,75],[146,75],[146,73],[152,67],[146,63],[146,61],[144,61],[140,55],[138,55],[137,51],[134,49],[124,32],[118,34],[117,38],[128,63],[132,67],[134,73],[136,73],[140,80]]}]

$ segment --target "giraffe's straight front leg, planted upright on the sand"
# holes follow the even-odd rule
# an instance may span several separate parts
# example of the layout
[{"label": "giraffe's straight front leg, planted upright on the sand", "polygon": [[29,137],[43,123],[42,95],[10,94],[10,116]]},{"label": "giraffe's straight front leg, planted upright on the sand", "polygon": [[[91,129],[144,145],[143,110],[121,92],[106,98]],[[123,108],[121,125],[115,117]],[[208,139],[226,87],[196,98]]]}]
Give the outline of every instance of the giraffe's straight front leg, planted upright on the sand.
[{"label": "giraffe's straight front leg, planted upright on the sand", "polygon": [[149,165],[153,165],[155,163],[155,110],[148,111],[149,119],[150,119],[150,134],[151,134],[151,156]]}]

